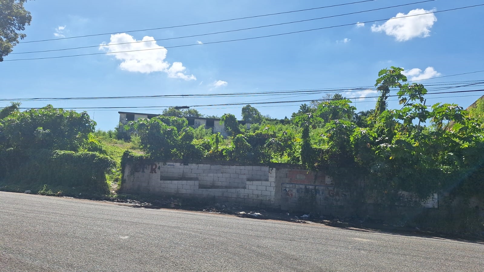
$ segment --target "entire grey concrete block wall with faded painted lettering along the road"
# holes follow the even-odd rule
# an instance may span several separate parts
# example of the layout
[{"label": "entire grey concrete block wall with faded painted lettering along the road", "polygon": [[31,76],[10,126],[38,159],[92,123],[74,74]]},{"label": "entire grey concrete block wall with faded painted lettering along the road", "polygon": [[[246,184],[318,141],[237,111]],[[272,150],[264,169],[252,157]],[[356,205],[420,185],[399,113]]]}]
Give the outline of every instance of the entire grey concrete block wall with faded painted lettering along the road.
[{"label": "entire grey concrete block wall with faded painted lettering along the road", "polygon": [[[221,202],[293,211],[306,209],[304,205],[310,202],[310,210],[335,216],[346,216],[354,208],[350,196],[335,189],[331,177],[284,166],[231,162],[127,165],[121,189],[124,193],[210,197]],[[436,203],[437,196],[433,196],[423,206],[437,208]]]}]

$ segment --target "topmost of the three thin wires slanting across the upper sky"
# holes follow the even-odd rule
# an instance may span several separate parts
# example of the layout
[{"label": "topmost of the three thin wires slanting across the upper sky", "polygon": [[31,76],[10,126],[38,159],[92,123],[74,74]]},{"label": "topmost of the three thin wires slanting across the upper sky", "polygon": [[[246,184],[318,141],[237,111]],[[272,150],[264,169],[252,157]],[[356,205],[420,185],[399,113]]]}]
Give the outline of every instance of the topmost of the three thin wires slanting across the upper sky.
[{"label": "topmost of the three thin wires slanting across the upper sky", "polygon": [[235,20],[242,20],[242,19],[249,19],[249,18],[257,18],[257,17],[264,17],[264,16],[272,16],[272,15],[280,15],[280,14],[288,14],[288,13],[295,13],[295,12],[302,12],[302,11],[309,11],[309,10],[317,10],[317,9],[324,9],[324,8],[345,6],[345,5],[358,4],[358,3],[371,2],[371,1],[375,1],[375,0],[364,0],[364,1],[344,3],[344,4],[337,4],[337,5],[317,7],[317,8],[310,8],[310,9],[294,10],[294,11],[287,11],[287,12],[278,12],[278,13],[271,13],[271,14],[264,14],[264,15],[255,15],[255,16],[246,16],[246,17],[240,17],[240,18],[232,18],[232,19],[225,19],[225,20],[218,20],[218,21],[210,21],[210,22],[203,22],[203,23],[195,23],[195,24],[187,24],[187,25],[179,25],[179,26],[171,26],[171,27],[160,27],[160,28],[152,28],[152,29],[144,29],[144,30],[118,31],[118,32],[108,32],[108,33],[91,34],[91,35],[74,36],[74,37],[64,37],[64,38],[56,38],[56,39],[27,41],[27,42],[20,42],[20,44],[46,42],[46,41],[57,41],[57,40],[66,40],[66,39],[74,39],[74,38],[84,38],[84,37],[101,36],[101,35],[109,35],[109,34],[117,34],[117,33],[131,33],[131,32],[148,31],[148,30],[162,30],[162,29],[171,29],[171,28],[198,26],[198,25],[205,25],[205,24],[212,24],[212,23],[228,22],[228,21],[235,21]]}]

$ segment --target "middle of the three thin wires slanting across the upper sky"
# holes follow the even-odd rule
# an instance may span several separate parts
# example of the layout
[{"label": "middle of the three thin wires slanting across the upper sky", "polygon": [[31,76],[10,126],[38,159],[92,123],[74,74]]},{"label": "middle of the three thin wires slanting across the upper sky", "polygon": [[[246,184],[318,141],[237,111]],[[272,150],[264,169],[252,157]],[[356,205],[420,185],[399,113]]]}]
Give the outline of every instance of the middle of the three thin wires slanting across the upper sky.
[{"label": "middle of the three thin wires slanting across the upper sky", "polygon": [[137,43],[158,42],[158,41],[166,41],[166,40],[176,40],[176,39],[182,39],[182,38],[193,38],[193,37],[207,36],[207,35],[213,35],[213,34],[222,34],[222,33],[236,32],[236,31],[241,31],[241,30],[253,30],[253,29],[273,27],[273,26],[281,26],[281,25],[287,25],[287,24],[293,24],[293,23],[301,23],[301,22],[307,22],[307,21],[313,21],[313,20],[320,20],[320,19],[327,19],[327,18],[333,18],[333,17],[345,16],[345,15],[353,15],[353,14],[359,14],[359,13],[365,13],[365,12],[371,12],[371,11],[377,11],[377,10],[384,10],[384,9],[395,8],[395,7],[408,6],[408,5],[413,5],[413,4],[420,4],[420,3],[424,3],[424,2],[430,2],[430,1],[435,1],[435,0],[425,0],[425,1],[420,1],[420,2],[414,2],[414,3],[402,4],[402,5],[396,5],[396,6],[384,7],[384,8],[378,8],[378,9],[358,11],[358,12],[352,12],[352,13],[346,13],[346,14],[340,14],[340,15],[331,15],[331,16],[325,16],[325,17],[319,17],[319,18],[312,18],[312,19],[305,19],[305,20],[292,21],[292,22],[279,23],[279,24],[272,24],[272,25],[264,25],[264,26],[251,27],[251,28],[243,28],[243,29],[237,29],[237,30],[219,31],[219,32],[212,32],[212,33],[205,33],[205,34],[197,34],[197,35],[190,35],[190,36],[182,36],[182,37],[174,37],[174,38],[166,38],[166,39],[156,39],[156,40],[150,40],[150,41],[136,41],[136,42],[127,42],[127,43],[119,43],[119,44],[103,44],[103,45],[80,46],[80,47],[71,47],[71,48],[63,48],[63,49],[51,49],[51,50],[40,50],[40,51],[30,51],[30,52],[18,52],[18,53],[10,53],[10,55],[14,55],[14,54],[30,54],[30,53],[44,53],[44,52],[65,51],[65,50],[74,50],[74,49],[82,49],[82,48],[102,47],[102,46],[110,46],[110,45],[126,45],[126,44],[137,44]]}]

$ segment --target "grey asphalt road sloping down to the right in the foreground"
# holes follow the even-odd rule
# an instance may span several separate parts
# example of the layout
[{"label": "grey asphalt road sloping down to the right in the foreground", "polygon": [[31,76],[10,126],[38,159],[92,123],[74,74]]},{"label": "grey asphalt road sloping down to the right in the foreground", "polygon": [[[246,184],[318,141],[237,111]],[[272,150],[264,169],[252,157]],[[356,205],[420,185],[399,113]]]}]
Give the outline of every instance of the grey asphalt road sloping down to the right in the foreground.
[{"label": "grey asphalt road sloping down to the right in the foreground", "polygon": [[484,245],[0,192],[0,271],[484,271]]}]

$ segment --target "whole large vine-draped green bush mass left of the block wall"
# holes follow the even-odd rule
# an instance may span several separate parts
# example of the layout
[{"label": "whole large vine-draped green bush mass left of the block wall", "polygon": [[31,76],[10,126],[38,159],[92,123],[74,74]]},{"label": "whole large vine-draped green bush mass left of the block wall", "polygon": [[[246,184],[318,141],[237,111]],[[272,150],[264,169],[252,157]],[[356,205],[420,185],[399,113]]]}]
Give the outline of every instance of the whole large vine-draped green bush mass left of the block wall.
[{"label": "whole large vine-draped green bush mass left of the block wall", "polygon": [[87,113],[50,105],[20,112],[16,104],[0,113],[3,190],[68,196],[108,193],[106,173],[114,161],[103,154],[92,134],[95,122]]}]

